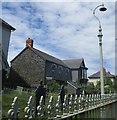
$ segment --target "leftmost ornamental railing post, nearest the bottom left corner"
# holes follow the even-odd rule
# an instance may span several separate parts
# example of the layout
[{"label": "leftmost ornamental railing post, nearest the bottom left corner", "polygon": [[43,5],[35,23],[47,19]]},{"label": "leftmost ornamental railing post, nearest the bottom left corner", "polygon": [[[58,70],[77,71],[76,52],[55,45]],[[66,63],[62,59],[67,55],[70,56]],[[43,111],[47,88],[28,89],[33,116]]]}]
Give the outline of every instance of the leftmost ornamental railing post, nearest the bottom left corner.
[{"label": "leftmost ornamental railing post, nearest the bottom left corner", "polygon": [[8,119],[9,120],[17,120],[19,114],[19,105],[18,105],[18,97],[15,97],[11,109],[8,111]]}]

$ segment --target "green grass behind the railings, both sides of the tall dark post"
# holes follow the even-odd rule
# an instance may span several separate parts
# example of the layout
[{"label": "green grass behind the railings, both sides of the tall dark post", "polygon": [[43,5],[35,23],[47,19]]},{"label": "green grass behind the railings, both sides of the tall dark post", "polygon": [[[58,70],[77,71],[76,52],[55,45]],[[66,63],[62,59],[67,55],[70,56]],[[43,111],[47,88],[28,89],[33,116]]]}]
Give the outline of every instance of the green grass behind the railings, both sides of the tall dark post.
[{"label": "green grass behind the railings, both sides of the tall dark post", "polygon": [[[33,96],[33,103],[34,103],[34,92],[19,92],[17,90],[5,90],[2,94],[2,118],[7,118],[8,110],[11,108],[11,104],[13,102],[14,97],[18,97],[18,104],[20,108],[19,118],[24,118],[24,108],[27,105],[28,99],[30,96]],[[54,104],[57,101],[57,94],[56,93],[49,93],[48,97],[46,98],[46,108],[49,102],[50,96],[54,96]],[[47,109],[46,109],[47,114]]]}]

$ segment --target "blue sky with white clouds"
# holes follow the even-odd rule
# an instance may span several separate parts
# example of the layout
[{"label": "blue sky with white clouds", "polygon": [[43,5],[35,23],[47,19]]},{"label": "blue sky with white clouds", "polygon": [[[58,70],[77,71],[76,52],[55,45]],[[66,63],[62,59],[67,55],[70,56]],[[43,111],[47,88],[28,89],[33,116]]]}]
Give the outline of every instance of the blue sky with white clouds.
[{"label": "blue sky with white clouds", "polygon": [[[103,2],[107,11],[96,9],[102,26],[103,66],[115,74],[115,2]],[[8,62],[24,48],[27,38],[34,48],[61,60],[84,58],[88,75],[99,71],[99,22],[93,15],[102,2],[2,2],[3,20],[11,33]]]}]

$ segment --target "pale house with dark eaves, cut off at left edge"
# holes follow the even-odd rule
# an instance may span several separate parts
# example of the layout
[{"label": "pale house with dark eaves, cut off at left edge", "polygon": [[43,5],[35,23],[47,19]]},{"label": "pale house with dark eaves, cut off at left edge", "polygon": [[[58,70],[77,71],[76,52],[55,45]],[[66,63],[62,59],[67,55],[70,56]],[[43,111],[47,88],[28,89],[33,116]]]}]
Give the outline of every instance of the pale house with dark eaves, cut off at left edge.
[{"label": "pale house with dark eaves, cut off at left edge", "polygon": [[7,56],[12,31],[15,31],[15,28],[0,18],[0,54],[2,56],[0,58],[0,70],[6,70],[8,68]]}]

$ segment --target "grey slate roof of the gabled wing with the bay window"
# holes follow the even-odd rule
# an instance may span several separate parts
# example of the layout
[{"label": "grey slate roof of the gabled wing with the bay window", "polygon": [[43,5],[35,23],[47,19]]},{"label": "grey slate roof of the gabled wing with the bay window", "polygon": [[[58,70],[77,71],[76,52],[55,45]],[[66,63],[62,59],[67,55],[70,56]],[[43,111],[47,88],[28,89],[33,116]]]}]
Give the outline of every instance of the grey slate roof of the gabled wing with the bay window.
[{"label": "grey slate roof of the gabled wing with the bay window", "polygon": [[81,63],[84,61],[83,58],[81,59],[70,59],[70,60],[63,60],[63,62],[70,68],[76,69],[81,67]]}]

